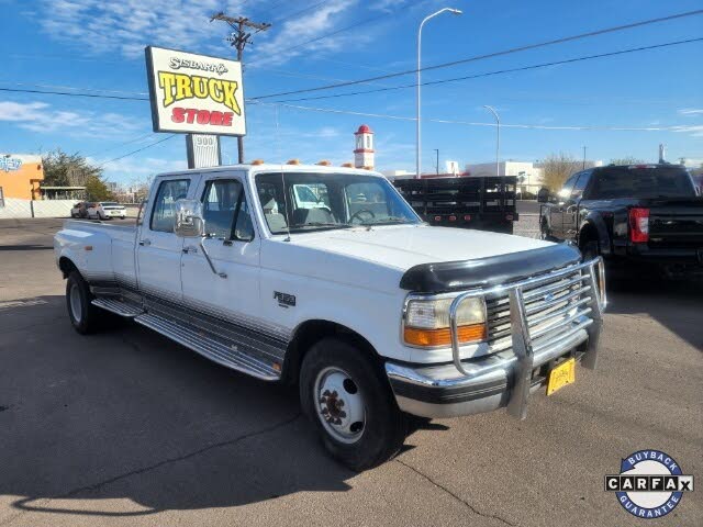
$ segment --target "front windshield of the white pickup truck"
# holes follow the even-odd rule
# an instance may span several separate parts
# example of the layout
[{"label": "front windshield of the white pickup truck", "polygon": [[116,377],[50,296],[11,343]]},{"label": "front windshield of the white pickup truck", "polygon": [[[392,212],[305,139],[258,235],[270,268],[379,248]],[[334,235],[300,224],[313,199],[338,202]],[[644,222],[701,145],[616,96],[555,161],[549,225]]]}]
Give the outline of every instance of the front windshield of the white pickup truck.
[{"label": "front windshield of the white pickup truck", "polygon": [[388,180],[378,176],[259,173],[256,189],[271,234],[421,223]]}]

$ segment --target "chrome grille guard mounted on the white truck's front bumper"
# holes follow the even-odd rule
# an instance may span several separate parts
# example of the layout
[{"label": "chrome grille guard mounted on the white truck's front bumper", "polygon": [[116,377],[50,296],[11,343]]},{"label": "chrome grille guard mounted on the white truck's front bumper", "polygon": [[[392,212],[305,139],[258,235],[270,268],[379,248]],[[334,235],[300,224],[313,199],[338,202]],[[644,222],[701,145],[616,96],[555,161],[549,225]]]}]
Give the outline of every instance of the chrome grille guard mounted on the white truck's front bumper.
[{"label": "chrome grille guard mounted on the white truck's front bumper", "polygon": [[[570,306],[569,304],[567,304],[567,307],[569,307],[569,310],[563,310],[562,312],[560,310],[559,312],[557,312],[558,315],[565,316],[565,318],[561,321],[561,325],[554,327],[566,327],[569,324],[576,324],[577,329],[585,328],[589,335],[589,340],[585,354],[583,356],[582,365],[584,368],[593,370],[596,366],[598,340],[601,334],[601,326],[603,324],[603,310],[606,305],[605,270],[603,258],[601,257],[582,264],[569,266],[563,269],[559,269],[558,271],[528,278],[520,282],[514,282],[505,285],[496,285],[488,289],[467,291],[459,294],[449,306],[449,325],[451,328],[451,356],[454,366],[457,368],[457,370],[459,370],[461,374],[468,377],[469,373],[464,369],[460,357],[460,344],[457,328],[457,312],[459,310],[459,306],[466,299],[479,296],[486,300],[486,298],[491,295],[507,293],[510,304],[512,349],[517,359],[514,370],[513,391],[507,402],[507,413],[513,417],[524,419],[527,416],[527,400],[529,397],[532,370],[534,365],[533,339],[544,334],[543,332],[539,335],[532,335],[529,332],[524,300],[525,290],[535,288],[546,282],[554,282],[555,280],[569,277],[570,274],[573,276],[576,272],[579,272],[580,278],[571,279],[567,283],[569,285],[572,285],[576,281],[582,285],[583,281],[587,281],[588,287],[583,288],[583,291],[591,292],[588,301],[584,302],[588,306],[587,311],[581,313],[577,311],[577,314],[568,316],[567,312],[570,311],[570,309],[578,309],[578,305],[580,305],[580,303],[578,305],[572,304]],[[573,296],[576,295],[569,293],[568,298],[562,298],[561,300],[569,300]],[[589,314],[590,316],[590,321],[587,321],[587,323],[579,322],[577,319],[578,317],[580,317],[580,315],[585,314]],[[487,326],[488,322],[489,321],[487,319]]]}]

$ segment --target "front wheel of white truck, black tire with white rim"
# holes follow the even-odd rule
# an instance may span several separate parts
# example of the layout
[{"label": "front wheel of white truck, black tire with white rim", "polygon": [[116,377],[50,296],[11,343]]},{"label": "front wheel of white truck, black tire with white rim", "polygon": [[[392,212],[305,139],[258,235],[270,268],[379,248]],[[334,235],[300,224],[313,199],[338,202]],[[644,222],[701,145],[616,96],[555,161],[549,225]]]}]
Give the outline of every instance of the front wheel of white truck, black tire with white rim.
[{"label": "front wheel of white truck, black tire with white rim", "polygon": [[357,346],[324,338],[305,355],[300,401],[326,450],[361,471],[393,457],[404,439],[404,416],[372,359]]}]

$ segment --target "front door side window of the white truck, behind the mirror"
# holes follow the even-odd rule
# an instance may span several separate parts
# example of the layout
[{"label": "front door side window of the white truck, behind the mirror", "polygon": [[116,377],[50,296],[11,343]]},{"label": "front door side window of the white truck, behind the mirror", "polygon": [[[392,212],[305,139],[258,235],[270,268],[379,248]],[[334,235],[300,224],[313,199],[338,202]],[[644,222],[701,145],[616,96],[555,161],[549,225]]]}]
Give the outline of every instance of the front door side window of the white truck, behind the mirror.
[{"label": "front door side window of the white truck, behind the mirror", "polygon": [[202,213],[209,236],[250,240],[254,225],[242,183],[235,179],[208,181],[202,197]]}]

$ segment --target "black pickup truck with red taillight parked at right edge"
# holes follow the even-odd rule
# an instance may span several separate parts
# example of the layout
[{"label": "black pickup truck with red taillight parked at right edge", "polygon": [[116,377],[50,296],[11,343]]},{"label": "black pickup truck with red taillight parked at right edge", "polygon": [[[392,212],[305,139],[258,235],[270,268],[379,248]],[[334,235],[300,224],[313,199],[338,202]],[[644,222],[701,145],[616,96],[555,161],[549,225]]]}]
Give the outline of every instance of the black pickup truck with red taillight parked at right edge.
[{"label": "black pickup truck with red taillight parked at right edge", "polygon": [[703,277],[703,198],[698,193],[679,165],[583,170],[540,206],[540,234],[578,244],[584,258],[602,255],[666,277]]}]

